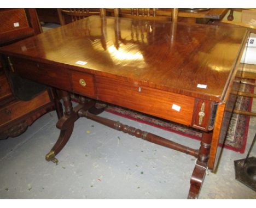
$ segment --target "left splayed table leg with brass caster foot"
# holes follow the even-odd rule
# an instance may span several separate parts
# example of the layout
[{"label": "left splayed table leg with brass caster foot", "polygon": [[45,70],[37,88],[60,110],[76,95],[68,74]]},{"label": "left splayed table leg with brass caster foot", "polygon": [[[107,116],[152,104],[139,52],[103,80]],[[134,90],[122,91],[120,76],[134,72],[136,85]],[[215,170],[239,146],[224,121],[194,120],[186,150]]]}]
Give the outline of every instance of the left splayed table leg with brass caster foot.
[{"label": "left splayed table leg with brass caster foot", "polygon": [[63,149],[71,137],[74,123],[79,118],[78,111],[80,109],[85,109],[85,111],[87,111],[96,103],[94,100],[85,102],[84,99],[80,99],[79,105],[75,106],[73,109],[69,93],[67,91],[61,91],[61,96],[63,99],[63,105],[65,107],[65,114],[56,124],[57,128],[61,130],[60,136],[53,148],[51,148],[50,152],[45,156],[46,161],[53,161],[54,163],[58,162],[55,156]]}]

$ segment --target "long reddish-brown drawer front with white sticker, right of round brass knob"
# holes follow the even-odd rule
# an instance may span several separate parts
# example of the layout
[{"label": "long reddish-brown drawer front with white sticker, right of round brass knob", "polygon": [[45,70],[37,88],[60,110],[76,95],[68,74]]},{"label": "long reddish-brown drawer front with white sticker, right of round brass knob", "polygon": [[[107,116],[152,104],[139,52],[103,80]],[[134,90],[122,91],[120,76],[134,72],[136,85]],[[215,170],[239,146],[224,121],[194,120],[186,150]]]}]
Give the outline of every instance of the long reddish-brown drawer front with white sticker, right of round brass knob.
[{"label": "long reddish-brown drawer front with white sticker, right of round brass knob", "polygon": [[123,82],[106,77],[96,77],[98,99],[115,105],[134,109],[191,125],[194,98],[158,89],[140,87],[137,84]]}]

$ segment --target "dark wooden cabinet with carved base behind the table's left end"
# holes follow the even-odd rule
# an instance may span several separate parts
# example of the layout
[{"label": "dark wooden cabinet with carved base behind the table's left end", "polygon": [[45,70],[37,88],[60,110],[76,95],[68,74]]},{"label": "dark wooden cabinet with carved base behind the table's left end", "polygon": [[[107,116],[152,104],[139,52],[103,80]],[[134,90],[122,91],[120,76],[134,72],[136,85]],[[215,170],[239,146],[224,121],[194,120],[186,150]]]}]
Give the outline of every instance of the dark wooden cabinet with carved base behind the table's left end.
[{"label": "dark wooden cabinet with carved base behind the table's left end", "polygon": [[[39,34],[38,23],[35,9],[1,9],[0,46]],[[0,62],[0,139],[18,136],[41,115],[55,109],[50,89],[12,72],[5,74],[6,65]],[[25,85],[33,89],[24,91]]]}]

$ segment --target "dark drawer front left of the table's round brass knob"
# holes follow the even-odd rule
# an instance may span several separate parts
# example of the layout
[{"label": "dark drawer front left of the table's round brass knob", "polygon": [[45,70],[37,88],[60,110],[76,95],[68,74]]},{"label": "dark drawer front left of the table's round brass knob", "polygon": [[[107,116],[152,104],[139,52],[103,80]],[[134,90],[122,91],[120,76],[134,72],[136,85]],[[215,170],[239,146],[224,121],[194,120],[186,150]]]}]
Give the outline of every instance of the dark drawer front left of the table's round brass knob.
[{"label": "dark drawer front left of the table's round brass knob", "polygon": [[18,57],[10,57],[10,62],[13,65],[13,70],[24,78],[32,79],[51,87],[71,90],[68,71],[61,67]]}]

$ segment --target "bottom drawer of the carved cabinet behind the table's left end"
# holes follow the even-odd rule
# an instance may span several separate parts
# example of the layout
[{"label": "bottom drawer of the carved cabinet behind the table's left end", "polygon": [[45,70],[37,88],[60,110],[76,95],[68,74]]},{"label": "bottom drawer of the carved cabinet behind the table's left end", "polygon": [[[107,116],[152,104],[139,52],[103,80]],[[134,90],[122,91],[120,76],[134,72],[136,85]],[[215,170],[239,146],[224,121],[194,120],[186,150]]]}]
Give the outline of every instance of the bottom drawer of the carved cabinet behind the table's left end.
[{"label": "bottom drawer of the carved cabinet behind the table's left end", "polygon": [[50,98],[48,92],[44,91],[44,93],[30,101],[17,101],[11,103],[9,106],[0,109],[0,126],[33,112],[49,102]]}]

